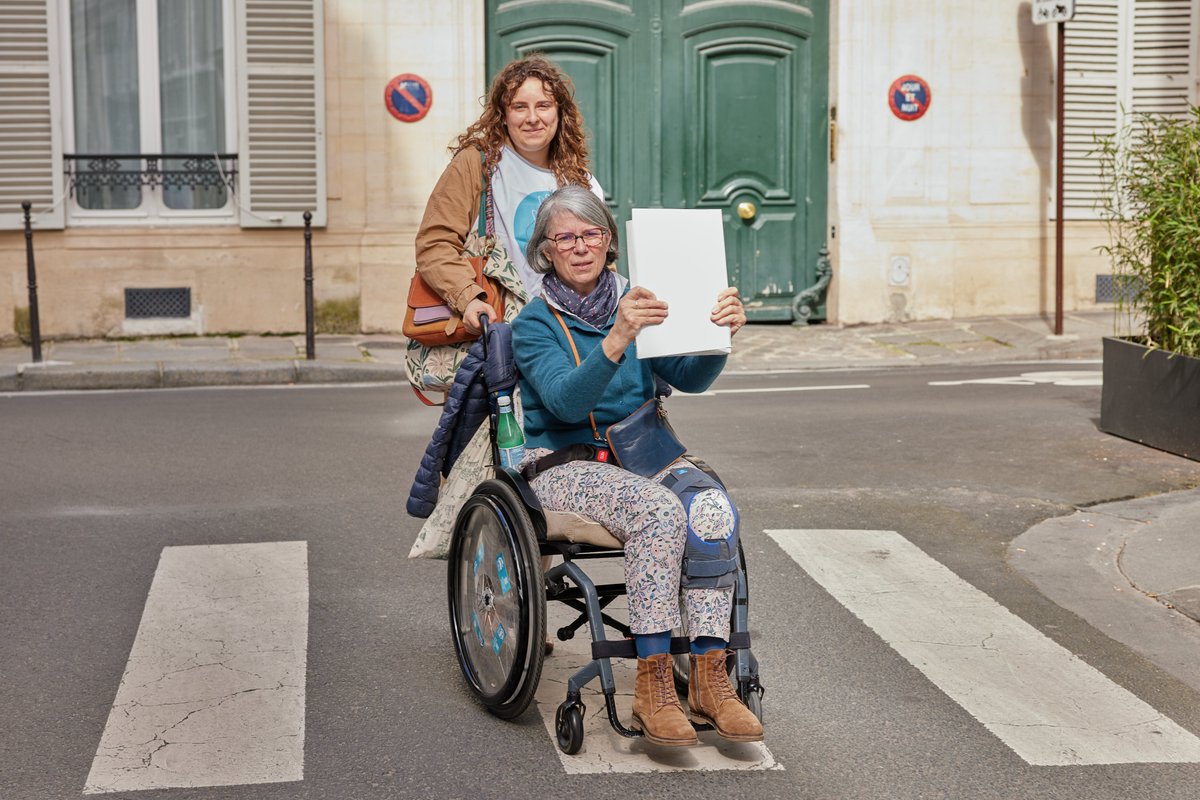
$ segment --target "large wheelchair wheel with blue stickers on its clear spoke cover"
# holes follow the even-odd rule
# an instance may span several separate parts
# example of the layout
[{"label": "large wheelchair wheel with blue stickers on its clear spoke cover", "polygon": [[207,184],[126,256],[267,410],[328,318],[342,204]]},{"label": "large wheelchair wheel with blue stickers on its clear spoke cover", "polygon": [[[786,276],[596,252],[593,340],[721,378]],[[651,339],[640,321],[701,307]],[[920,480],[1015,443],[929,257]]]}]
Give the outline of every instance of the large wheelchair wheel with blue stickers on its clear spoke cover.
[{"label": "large wheelchair wheel with blue stickers on its clear spoke cover", "polygon": [[546,593],[533,523],[520,495],[484,481],[455,522],[446,591],[458,667],[498,717],[520,716],[541,679]]}]

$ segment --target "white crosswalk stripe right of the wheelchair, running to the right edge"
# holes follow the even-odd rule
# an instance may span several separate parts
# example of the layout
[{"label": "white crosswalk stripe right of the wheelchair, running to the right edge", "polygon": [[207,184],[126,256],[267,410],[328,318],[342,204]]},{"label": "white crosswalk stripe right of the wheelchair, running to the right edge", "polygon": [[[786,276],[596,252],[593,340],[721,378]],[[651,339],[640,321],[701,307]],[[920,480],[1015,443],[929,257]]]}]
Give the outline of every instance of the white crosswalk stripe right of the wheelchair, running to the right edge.
[{"label": "white crosswalk stripe right of the wheelchair, running to the right edge", "polygon": [[767,534],[1027,763],[1200,762],[1200,739],[895,531]]}]

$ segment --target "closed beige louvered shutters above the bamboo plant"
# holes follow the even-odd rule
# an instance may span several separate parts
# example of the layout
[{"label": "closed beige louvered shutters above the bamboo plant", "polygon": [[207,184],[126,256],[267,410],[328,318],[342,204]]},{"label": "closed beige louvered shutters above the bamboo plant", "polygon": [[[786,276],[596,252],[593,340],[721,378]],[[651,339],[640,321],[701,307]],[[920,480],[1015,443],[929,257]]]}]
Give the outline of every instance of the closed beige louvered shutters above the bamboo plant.
[{"label": "closed beige louvered shutters above the bamboo plant", "polygon": [[1067,23],[1063,216],[1096,217],[1096,137],[1130,114],[1187,114],[1193,0],[1087,0]]}]

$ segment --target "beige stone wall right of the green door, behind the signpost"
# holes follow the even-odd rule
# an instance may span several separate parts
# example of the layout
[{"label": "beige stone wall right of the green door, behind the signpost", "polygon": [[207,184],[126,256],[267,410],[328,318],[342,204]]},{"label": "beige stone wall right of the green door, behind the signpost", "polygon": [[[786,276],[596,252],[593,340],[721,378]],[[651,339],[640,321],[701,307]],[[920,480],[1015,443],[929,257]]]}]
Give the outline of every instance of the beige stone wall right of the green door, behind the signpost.
[{"label": "beige stone wall right of the green door, behind the signpost", "polygon": [[[1052,312],[1052,29],[1032,24],[1027,2],[839,0],[833,20],[830,317]],[[908,73],[931,88],[912,122],[887,102]],[[1104,241],[1096,222],[1067,224],[1068,311],[1094,306]],[[906,283],[889,279],[898,257]]]}]

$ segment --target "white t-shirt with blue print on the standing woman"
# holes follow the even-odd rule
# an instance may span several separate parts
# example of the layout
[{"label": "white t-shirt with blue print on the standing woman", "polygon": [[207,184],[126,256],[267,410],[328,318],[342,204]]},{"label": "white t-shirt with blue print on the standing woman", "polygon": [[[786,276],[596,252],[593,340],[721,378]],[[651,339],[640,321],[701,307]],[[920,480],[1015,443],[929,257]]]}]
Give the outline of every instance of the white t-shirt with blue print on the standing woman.
[{"label": "white t-shirt with blue print on the standing woman", "polygon": [[[592,193],[604,200],[604,190],[595,178]],[[496,235],[509,251],[530,296],[541,294],[541,275],[529,269],[524,248],[533,234],[533,223],[541,201],[558,188],[558,180],[550,169],[535,167],[515,150],[504,146],[492,175],[492,199],[496,203]],[[478,224],[478,222],[476,222]]]}]

